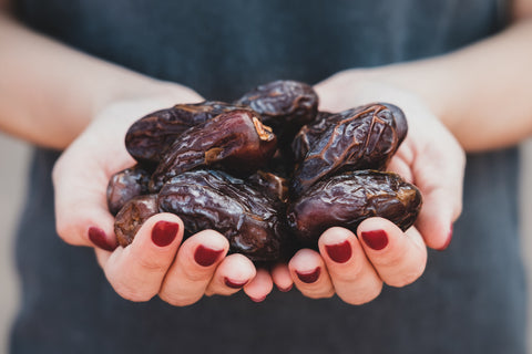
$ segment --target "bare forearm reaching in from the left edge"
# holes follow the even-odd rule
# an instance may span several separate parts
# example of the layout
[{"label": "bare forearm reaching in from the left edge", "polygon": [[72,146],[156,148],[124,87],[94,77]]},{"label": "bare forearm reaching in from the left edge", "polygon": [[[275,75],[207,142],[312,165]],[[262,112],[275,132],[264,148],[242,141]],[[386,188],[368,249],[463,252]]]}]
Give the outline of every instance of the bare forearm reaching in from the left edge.
[{"label": "bare forearm reaching in from the left edge", "polygon": [[0,53],[0,129],[42,146],[64,148],[110,102],[176,88],[72,50],[1,12]]}]

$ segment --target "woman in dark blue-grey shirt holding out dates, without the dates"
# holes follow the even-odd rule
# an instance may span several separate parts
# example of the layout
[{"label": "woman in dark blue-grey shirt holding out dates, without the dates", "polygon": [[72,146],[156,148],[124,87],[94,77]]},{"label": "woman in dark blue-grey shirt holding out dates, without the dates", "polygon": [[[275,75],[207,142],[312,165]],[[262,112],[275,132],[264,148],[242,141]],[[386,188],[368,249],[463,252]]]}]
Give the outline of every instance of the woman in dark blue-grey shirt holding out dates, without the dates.
[{"label": "woman in dark blue-grey shirt holding out dates, without the dates", "polygon": [[[532,129],[531,7],[516,1],[515,23],[503,30],[510,14],[498,1],[16,1],[20,21],[79,51],[2,21],[3,129],[68,147],[57,163],[58,153],[35,153],[12,352],[524,352],[514,149],[468,156],[464,212],[452,225],[462,209],[461,147],[502,148]],[[377,100],[405,110],[410,131],[390,168],[424,197],[407,237],[377,218],[357,236],[332,228],[319,253],[299,251],[267,272],[226,256],[214,231],[182,242],[181,220],[161,214],[115,249],[103,189],[132,164],[127,126],[275,79],[316,84],[324,111]],[[94,248],[101,269],[91,249],[60,241],[55,225],[68,243]],[[452,230],[448,251],[427,253],[446,249]],[[285,291],[295,283],[304,296],[264,300],[274,282]],[[264,302],[242,292],[203,298],[234,294],[231,284]]]}]

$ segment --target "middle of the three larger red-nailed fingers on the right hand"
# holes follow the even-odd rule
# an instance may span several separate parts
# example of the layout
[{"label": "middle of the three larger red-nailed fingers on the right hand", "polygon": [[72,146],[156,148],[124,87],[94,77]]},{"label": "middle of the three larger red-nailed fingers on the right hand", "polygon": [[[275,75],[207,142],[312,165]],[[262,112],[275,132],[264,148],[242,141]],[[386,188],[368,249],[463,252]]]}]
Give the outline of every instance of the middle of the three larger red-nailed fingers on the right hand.
[{"label": "middle of the three larger red-nailed fingers on the right hand", "polygon": [[330,228],[321,235],[318,244],[341,300],[359,305],[380,294],[382,280],[366,258],[355,233],[344,228]]}]

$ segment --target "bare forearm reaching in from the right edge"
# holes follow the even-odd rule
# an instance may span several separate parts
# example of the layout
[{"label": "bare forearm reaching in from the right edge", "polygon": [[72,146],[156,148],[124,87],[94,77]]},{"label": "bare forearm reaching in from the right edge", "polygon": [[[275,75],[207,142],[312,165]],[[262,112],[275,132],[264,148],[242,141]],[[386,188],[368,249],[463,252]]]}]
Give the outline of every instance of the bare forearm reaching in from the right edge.
[{"label": "bare forearm reaching in from the right edge", "polygon": [[467,150],[509,146],[532,134],[531,41],[532,21],[523,20],[463,50],[372,74],[421,96]]}]

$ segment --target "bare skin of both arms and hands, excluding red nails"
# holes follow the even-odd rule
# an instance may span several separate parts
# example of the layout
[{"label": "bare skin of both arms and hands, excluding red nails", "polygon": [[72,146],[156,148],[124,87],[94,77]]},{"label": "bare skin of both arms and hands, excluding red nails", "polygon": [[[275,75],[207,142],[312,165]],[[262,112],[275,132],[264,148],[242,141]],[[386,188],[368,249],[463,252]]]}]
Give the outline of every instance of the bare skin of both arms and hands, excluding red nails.
[{"label": "bare skin of both arms and hands, excluding red nails", "polygon": [[[274,283],[283,290],[295,284],[309,298],[336,293],[350,304],[371,301],[383,283],[403,287],[416,281],[427,263],[427,247],[449,244],[452,222],[461,211],[463,149],[513,145],[532,132],[526,114],[532,112],[528,85],[532,1],[518,0],[514,23],[490,39],[429,60],[344,71],[315,86],[324,111],[386,101],[406,112],[410,131],[389,169],[413,181],[424,196],[418,222],[405,232],[407,237],[380,218],[364,221],[357,235],[331,228],[319,239],[320,252],[300,250],[287,264],[267,272],[243,256],[226,257],[227,241],[215,231],[182,241],[180,218],[160,214],[143,225],[130,247],[105,251],[91,242],[89,229],[100,228],[106,242],[114,243],[105,186],[113,173],[133,164],[123,146],[125,131],[149,112],[202,97],[188,87],[146,77],[33,33],[9,18],[6,0],[0,6],[0,128],[40,146],[65,149],[53,170],[58,233],[70,244],[93,247],[111,285],[132,301],[158,295],[181,306],[203,295],[237,292],[225,278],[247,281],[244,292],[256,301]],[[151,239],[161,220],[180,226],[165,247]],[[374,250],[361,235],[378,230],[387,235],[388,243]],[[345,241],[351,257],[337,263],[326,248]],[[194,260],[200,246],[222,256],[209,267],[200,266]],[[317,267],[321,271],[316,281],[300,281],[297,273]]]}]

